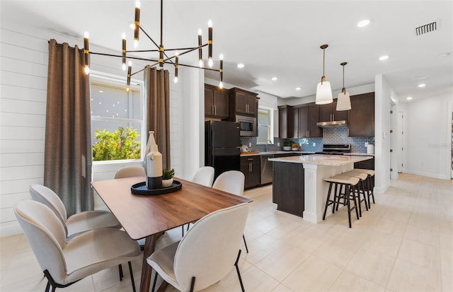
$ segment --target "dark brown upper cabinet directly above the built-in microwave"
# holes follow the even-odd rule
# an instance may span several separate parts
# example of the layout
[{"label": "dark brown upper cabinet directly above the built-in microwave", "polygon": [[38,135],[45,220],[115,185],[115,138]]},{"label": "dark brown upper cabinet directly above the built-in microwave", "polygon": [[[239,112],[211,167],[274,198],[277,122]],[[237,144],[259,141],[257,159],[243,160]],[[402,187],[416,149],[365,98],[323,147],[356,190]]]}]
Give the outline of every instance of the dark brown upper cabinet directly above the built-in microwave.
[{"label": "dark brown upper cabinet directly above the built-in microwave", "polygon": [[258,94],[241,88],[229,89],[230,117],[234,115],[258,115]]}]

